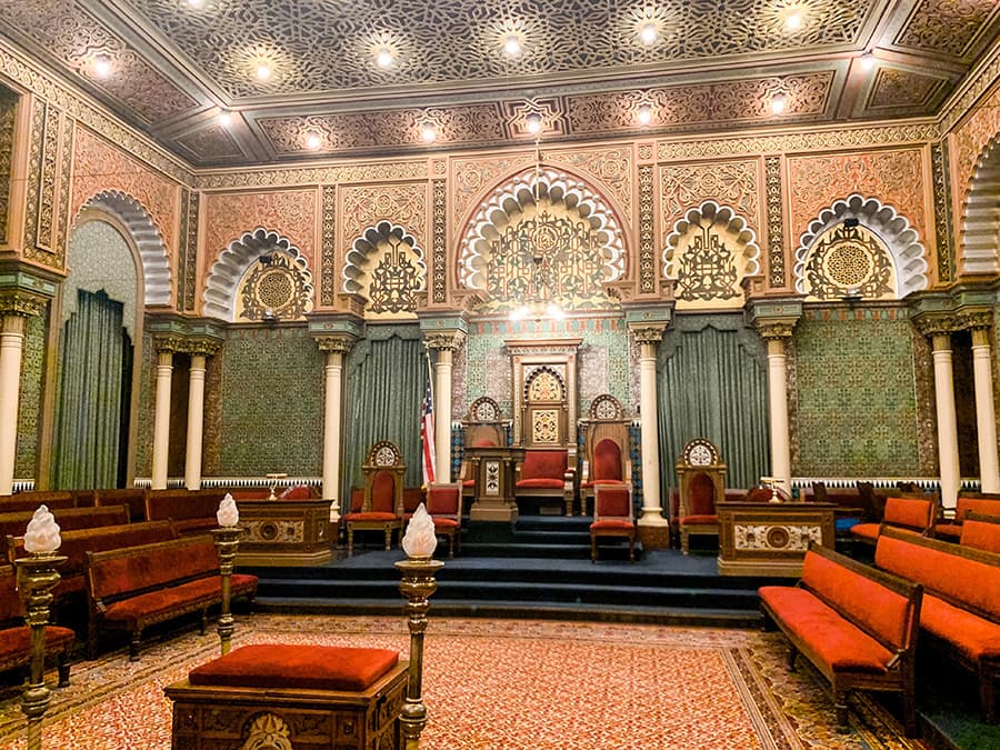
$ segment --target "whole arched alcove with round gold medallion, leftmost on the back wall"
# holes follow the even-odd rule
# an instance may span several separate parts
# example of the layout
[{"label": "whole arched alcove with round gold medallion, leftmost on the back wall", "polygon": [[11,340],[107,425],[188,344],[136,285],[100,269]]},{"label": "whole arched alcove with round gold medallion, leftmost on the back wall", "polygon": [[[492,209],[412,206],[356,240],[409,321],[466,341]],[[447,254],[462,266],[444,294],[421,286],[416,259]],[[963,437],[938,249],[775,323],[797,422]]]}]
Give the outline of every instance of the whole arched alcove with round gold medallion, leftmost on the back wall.
[{"label": "whole arched alcove with round gold medallion, leftmost on the back wall", "polygon": [[[251,267],[257,268],[251,271]],[[244,283],[248,271],[257,272],[248,281],[259,281],[264,294],[268,279],[273,277],[274,300],[251,294],[253,300],[240,304],[240,292],[248,286]],[[240,310],[249,310],[247,320],[260,320],[268,317],[268,311],[276,318],[299,318],[312,309],[313,299],[312,274],[299,248],[287,237],[263,227],[233,240],[222,251],[212,264],[202,297],[204,314],[227,321],[237,320]]]}]

